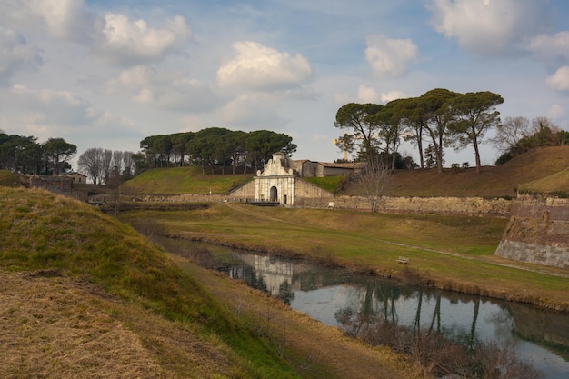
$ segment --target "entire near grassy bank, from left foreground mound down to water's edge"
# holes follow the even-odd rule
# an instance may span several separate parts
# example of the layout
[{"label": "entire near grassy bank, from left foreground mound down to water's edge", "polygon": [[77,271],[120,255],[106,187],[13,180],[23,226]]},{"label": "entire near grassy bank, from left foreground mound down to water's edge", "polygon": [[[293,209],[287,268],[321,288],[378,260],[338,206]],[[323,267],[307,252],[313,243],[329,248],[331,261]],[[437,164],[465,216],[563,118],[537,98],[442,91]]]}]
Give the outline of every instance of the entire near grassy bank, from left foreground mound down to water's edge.
[{"label": "entire near grassy bank, from left foreground mound down to water's edge", "polygon": [[[284,316],[270,299],[187,262],[181,270],[130,226],[90,205],[0,187],[0,230],[1,377],[413,376],[388,351],[302,326],[305,317]],[[233,299],[246,296],[251,306],[237,316],[234,304],[220,303],[187,272],[208,288],[225,286]],[[271,319],[258,309],[344,355],[275,344]],[[351,355],[370,369],[336,371],[333,359]]]}]

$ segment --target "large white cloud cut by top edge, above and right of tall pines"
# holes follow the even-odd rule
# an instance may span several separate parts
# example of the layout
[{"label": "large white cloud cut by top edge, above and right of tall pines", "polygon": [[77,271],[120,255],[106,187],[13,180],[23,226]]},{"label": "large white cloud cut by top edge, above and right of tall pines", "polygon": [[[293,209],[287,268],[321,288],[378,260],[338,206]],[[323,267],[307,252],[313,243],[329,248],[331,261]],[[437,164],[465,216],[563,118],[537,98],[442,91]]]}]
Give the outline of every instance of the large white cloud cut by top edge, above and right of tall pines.
[{"label": "large white cloud cut by top edge, above and right of tall pines", "polygon": [[535,0],[430,0],[431,25],[464,50],[502,55],[549,24],[542,19],[546,2]]}]

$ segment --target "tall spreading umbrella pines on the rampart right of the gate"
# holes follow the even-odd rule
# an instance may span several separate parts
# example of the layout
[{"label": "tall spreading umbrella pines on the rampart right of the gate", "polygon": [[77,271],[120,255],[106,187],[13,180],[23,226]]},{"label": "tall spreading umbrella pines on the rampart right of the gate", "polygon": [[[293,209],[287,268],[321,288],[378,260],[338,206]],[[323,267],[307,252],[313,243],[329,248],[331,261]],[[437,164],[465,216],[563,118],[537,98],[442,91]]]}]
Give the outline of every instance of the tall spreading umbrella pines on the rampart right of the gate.
[{"label": "tall spreading umbrella pines on the rampart right of the gate", "polygon": [[420,167],[425,167],[429,154],[439,173],[443,172],[445,147],[458,150],[472,145],[480,172],[479,145],[488,130],[500,125],[496,106],[502,103],[502,96],[492,92],[460,94],[444,88],[386,105],[350,103],[337,111],[334,126],[347,132],[336,145],[356,152],[357,160],[388,157],[394,169],[399,146],[406,140],[417,146]]}]

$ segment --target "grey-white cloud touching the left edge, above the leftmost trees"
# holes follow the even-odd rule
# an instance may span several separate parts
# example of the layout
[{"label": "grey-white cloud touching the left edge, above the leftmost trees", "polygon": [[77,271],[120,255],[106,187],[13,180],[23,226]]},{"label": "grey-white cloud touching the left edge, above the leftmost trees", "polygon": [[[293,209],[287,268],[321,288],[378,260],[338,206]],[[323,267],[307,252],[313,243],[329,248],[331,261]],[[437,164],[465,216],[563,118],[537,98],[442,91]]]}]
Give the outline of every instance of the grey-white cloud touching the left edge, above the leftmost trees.
[{"label": "grey-white cloud touching the left edge, above the leftmost trees", "polygon": [[35,70],[42,65],[39,50],[23,35],[0,26],[0,86],[10,83],[15,72]]}]

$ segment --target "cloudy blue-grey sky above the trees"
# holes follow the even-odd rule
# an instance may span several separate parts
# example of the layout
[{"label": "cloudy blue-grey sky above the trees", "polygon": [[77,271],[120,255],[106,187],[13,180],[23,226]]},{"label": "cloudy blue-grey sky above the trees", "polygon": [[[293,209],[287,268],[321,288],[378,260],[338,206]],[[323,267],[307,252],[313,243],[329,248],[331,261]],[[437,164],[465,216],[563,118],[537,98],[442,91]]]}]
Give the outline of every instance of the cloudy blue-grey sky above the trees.
[{"label": "cloudy blue-grey sky above the trees", "polygon": [[[284,133],[294,159],[333,162],[342,105],[434,88],[491,91],[503,119],[569,130],[569,2],[0,1],[0,130],[64,138],[77,156],[225,127]],[[499,153],[483,145],[483,165]],[[445,165],[463,162],[472,147],[445,150]]]}]

